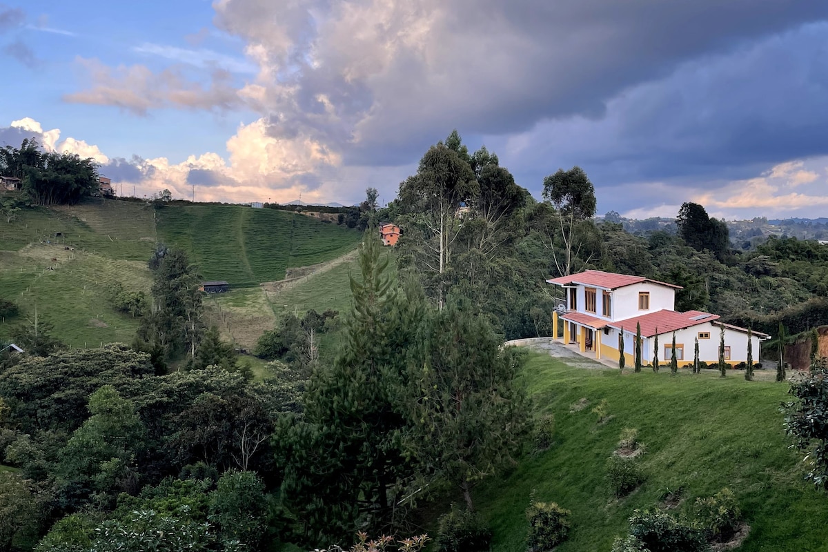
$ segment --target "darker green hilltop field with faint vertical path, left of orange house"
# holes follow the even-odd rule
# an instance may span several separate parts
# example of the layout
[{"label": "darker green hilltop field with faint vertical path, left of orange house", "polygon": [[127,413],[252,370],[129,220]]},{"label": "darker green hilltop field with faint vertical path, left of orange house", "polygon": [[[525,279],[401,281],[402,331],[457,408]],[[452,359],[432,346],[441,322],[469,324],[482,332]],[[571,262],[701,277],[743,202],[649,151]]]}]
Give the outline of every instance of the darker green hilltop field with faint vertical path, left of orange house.
[{"label": "darker green hilltop field with faint vertical path, left of orange house", "polygon": [[158,239],[183,247],[205,280],[233,287],[285,277],[292,266],[330,261],[356,247],[360,234],[301,214],[240,205],[165,206]]}]

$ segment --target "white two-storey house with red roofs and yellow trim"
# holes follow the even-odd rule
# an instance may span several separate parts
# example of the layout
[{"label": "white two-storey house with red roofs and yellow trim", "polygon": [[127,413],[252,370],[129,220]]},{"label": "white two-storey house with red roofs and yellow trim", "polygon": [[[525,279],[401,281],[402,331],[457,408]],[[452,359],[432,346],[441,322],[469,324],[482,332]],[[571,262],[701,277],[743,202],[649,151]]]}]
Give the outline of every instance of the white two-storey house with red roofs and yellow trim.
[{"label": "white two-storey house with red roofs and yellow trim", "polygon": [[[642,360],[652,363],[658,337],[659,364],[672,357],[676,334],[676,358],[683,366],[693,362],[699,340],[699,360],[719,362],[720,332],[724,329],[724,360],[736,364],[748,357],[748,330],[720,322],[718,314],[689,310],[676,312],[676,290],[662,281],[604,271],[584,271],[547,280],[560,286],[564,297],[552,315],[553,338],[558,338],[558,319],[563,320],[565,343],[577,344],[595,358],[619,360],[619,336],[623,335],[626,362],[635,362],[635,335],[641,325]],[[753,332],[753,359],[758,361],[759,342],[768,334]]]}]

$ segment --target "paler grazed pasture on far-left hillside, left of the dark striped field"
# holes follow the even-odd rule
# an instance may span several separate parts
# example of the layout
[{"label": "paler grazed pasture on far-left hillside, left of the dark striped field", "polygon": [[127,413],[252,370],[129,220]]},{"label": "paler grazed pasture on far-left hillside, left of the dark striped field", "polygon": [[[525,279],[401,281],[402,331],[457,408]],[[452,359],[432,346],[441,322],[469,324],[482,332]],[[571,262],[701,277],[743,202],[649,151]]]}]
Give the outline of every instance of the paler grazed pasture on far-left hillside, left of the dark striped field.
[{"label": "paler grazed pasture on far-left hillside, left of the dark striped field", "polygon": [[3,220],[0,297],[16,300],[22,316],[0,323],[0,339],[36,312],[72,347],[132,341],[138,320],[113,310],[107,291],[120,282],[149,292],[154,241],[152,209],[142,204],[27,209],[12,223]]}]

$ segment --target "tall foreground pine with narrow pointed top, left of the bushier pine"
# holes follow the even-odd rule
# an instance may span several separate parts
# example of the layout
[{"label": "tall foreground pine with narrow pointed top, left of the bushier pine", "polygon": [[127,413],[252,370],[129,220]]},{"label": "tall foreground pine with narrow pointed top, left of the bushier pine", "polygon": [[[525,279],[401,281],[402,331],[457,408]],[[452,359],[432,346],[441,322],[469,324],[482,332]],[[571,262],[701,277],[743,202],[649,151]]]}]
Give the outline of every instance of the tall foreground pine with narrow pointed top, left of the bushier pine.
[{"label": "tall foreground pine with narrow pointed top, left of the bushier pine", "polygon": [[413,474],[401,444],[408,425],[402,404],[424,301],[413,289],[397,294],[381,256],[368,229],[361,281],[350,279],[354,307],[344,346],[332,365],[319,363],[312,373],[304,420],[286,416],[277,430],[282,497],[306,524],[310,544],[353,535],[360,517],[371,530],[387,526],[396,493]]}]

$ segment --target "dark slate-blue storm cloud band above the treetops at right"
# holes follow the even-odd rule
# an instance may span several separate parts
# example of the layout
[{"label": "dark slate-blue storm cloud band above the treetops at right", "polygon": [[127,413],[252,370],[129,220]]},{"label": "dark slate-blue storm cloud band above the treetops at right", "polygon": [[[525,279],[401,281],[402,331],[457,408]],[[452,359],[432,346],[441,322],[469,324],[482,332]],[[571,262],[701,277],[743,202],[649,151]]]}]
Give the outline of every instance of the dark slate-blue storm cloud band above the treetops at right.
[{"label": "dark slate-blue storm cloud band above the treetops at right", "polygon": [[615,98],[603,118],[543,122],[490,145],[511,166],[536,167],[519,175],[536,192],[544,174],[575,164],[599,190],[641,181],[703,190],[826,155],[826,36],[828,23],[813,24],[688,62]]}]

